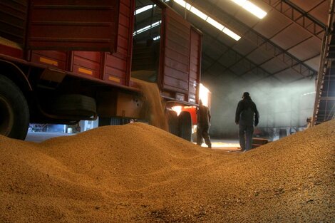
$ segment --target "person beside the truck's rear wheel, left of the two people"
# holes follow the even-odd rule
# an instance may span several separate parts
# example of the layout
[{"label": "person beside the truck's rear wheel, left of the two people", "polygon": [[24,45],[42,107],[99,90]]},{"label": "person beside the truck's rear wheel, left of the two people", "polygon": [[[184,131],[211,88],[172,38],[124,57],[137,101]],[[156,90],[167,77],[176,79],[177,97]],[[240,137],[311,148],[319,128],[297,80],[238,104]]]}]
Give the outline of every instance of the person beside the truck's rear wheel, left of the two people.
[{"label": "person beside the truck's rear wheel, left of the two people", "polygon": [[212,147],[210,142],[210,110],[202,105],[200,100],[199,109],[197,110],[197,145],[202,144],[202,138],[205,139],[206,145]]}]

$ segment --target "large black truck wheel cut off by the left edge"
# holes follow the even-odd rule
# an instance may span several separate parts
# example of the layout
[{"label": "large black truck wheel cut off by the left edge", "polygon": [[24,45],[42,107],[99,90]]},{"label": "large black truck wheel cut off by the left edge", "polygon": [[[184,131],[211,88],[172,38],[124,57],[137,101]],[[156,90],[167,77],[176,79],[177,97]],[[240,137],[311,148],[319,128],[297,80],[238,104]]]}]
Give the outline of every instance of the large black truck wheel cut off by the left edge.
[{"label": "large black truck wheel cut off by the left edge", "polygon": [[29,107],[24,94],[0,75],[0,135],[24,140],[29,128]]}]

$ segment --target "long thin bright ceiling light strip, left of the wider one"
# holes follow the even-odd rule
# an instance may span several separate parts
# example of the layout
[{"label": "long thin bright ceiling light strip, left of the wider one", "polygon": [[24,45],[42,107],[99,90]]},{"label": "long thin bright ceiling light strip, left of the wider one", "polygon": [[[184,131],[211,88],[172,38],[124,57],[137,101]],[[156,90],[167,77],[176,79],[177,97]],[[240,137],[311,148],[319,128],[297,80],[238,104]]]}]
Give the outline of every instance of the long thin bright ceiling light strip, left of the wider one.
[{"label": "long thin bright ceiling light strip, left of the wider one", "polygon": [[[223,33],[230,36],[231,38],[234,38],[234,40],[238,41],[241,38],[241,36],[237,35],[237,33],[234,33],[229,28],[223,26],[222,24],[220,24],[215,19],[212,19],[210,16],[207,16],[202,11],[195,8],[195,6],[192,6],[192,5],[188,4],[186,1],[183,1],[183,0],[173,0],[173,1],[175,1],[175,3],[179,4],[180,6],[184,7],[185,9],[191,11],[196,16],[199,16],[201,19],[207,21],[207,23],[211,24],[215,28],[219,29]],[[240,1],[242,1],[242,0],[240,0]]]}]

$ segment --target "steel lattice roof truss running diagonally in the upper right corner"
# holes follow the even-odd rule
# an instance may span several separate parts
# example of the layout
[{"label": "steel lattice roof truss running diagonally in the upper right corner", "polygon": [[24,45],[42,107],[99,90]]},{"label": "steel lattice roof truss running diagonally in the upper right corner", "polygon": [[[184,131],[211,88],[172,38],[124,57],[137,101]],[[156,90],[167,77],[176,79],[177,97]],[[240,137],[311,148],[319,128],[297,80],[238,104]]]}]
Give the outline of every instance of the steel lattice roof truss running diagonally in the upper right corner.
[{"label": "steel lattice roof truss running diagonally in the upper right corner", "polygon": [[[273,9],[276,9],[284,16],[287,16],[287,18],[294,21],[295,24],[305,28],[306,31],[309,31],[309,33],[316,36],[316,38],[319,38],[320,40],[322,39],[322,33],[326,30],[326,25],[324,25],[321,21],[315,19],[306,11],[300,9],[299,6],[293,4],[291,1],[288,0],[263,1],[269,4],[269,6],[272,6]],[[321,1],[321,3],[323,3],[324,1]]]}]

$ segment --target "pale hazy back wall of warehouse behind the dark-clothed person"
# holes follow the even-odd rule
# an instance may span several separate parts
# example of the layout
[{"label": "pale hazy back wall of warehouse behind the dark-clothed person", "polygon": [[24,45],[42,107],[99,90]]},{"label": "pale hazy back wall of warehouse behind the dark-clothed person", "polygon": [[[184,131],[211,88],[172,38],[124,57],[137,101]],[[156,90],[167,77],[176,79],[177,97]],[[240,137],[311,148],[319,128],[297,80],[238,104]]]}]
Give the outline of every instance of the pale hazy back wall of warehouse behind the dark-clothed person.
[{"label": "pale hazy back wall of warehouse behind the dark-clothed person", "polygon": [[[237,77],[220,66],[202,71],[202,83],[212,91],[212,138],[237,138],[234,123],[237,103],[248,91],[259,110],[259,130],[304,127],[314,109],[315,81],[302,79],[294,83],[274,78]],[[276,130],[277,129],[277,130]],[[288,130],[289,131],[289,130]],[[269,133],[274,134],[274,133]]]}]

